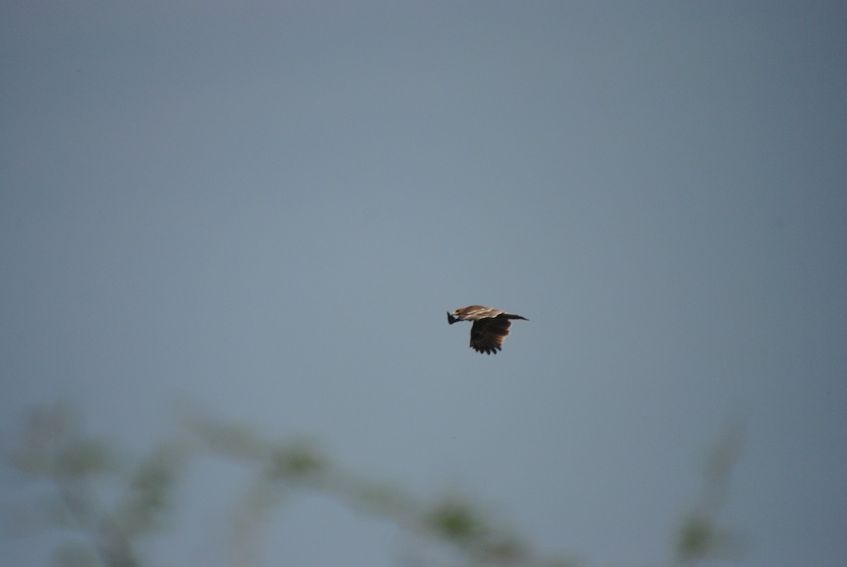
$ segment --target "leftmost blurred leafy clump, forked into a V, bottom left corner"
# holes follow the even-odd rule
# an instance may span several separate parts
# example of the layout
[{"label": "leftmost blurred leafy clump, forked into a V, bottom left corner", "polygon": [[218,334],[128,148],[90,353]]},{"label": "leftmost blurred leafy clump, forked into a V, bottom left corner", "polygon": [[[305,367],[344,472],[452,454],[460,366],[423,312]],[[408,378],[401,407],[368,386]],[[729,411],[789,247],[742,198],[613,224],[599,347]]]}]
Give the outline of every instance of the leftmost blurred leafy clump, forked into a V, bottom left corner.
[{"label": "leftmost blurred leafy clump, forked into a V, bottom left corner", "polygon": [[[180,468],[178,452],[156,447],[130,471],[115,454],[107,442],[86,437],[79,416],[65,404],[31,411],[22,439],[8,451],[9,464],[48,483],[19,514],[75,531],[56,550],[56,564],[138,565],[136,539],[164,525]],[[107,509],[100,494],[115,483],[122,485],[118,503]]]}]

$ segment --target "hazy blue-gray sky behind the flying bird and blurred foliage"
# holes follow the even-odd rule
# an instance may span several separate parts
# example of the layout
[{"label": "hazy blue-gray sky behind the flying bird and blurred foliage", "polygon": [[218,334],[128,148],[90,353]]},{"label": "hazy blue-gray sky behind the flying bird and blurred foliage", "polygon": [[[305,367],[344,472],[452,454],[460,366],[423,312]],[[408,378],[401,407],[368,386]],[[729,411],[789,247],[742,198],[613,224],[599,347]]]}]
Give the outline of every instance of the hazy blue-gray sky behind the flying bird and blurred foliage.
[{"label": "hazy blue-gray sky behind the flying bird and blurred foliage", "polygon": [[[71,399],[143,451],[190,400],[639,565],[741,413],[742,564],[843,564],[844,3],[0,14],[5,439]],[[479,355],[445,320],[472,303],[530,321]],[[224,564],[197,510],[226,478],[192,475],[154,564]],[[40,564],[39,542],[0,547]],[[268,565],[403,547],[308,498],[265,543]]]}]

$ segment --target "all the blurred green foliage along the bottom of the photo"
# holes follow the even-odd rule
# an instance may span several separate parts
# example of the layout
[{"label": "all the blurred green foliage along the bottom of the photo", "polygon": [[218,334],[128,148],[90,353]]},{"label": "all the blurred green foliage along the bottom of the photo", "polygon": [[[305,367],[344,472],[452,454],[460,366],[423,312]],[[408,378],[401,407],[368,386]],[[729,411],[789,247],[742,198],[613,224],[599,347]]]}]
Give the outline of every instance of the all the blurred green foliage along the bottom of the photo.
[{"label": "all the blurred green foliage along the bottom of the photo", "polygon": [[[679,564],[732,559],[745,551],[737,531],[717,526],[740,438],[741,428],[735,427],[715,445],[702,497],[678,531]],[[217,458],[241,464],[251,474],[231,512],[231,564],[257,564],[260,528],[285,503],[286,495],[309,490],[392,522],[423,546],[450,550],[449,564],[575,565],[567,559],[542,557],[526,538],[462,495],[422,502],[401,488],[344,470],[314,442],[268,440],[244,426],[202,414],[186,417],[174,436],[142,459],[118,459],[116,454],[113,446],[86,436],[79,416],[64,404],[33,410],[21,439],[6,452],[8,464],[44,489],[22,503],[19,519],[69,533],[55,550],[55,564],[140,566],[140,536],[168,526],[182,472],[193,459]],[[105,498],[115,492],[116,498]]]}]

